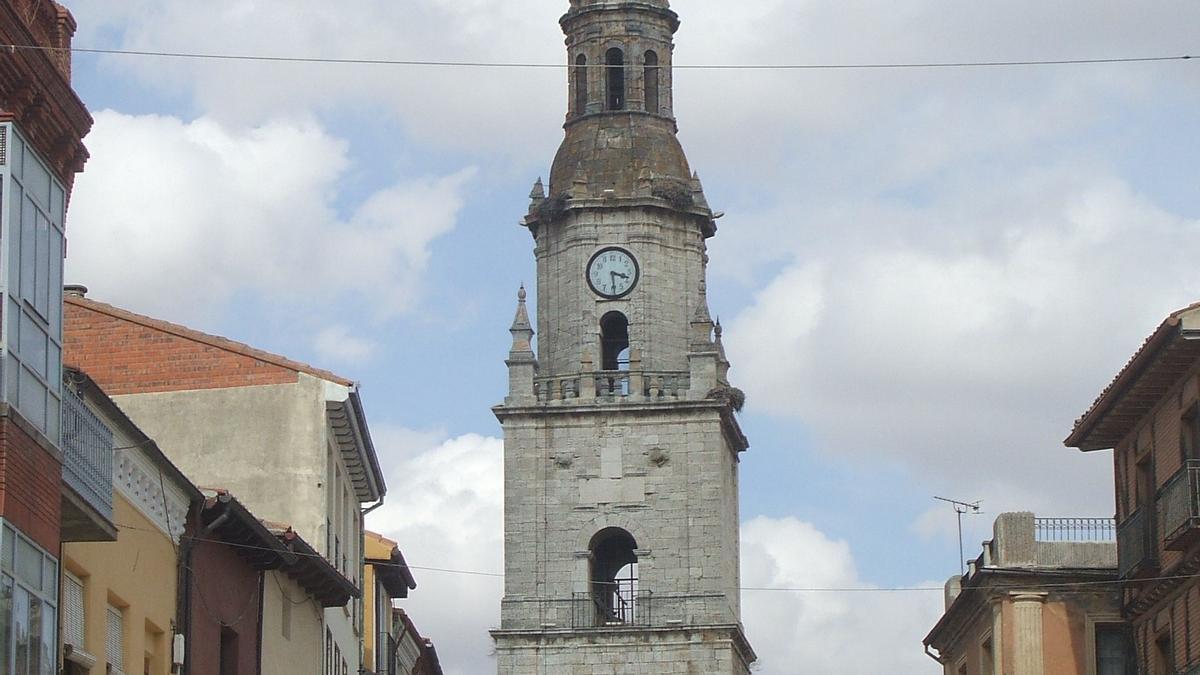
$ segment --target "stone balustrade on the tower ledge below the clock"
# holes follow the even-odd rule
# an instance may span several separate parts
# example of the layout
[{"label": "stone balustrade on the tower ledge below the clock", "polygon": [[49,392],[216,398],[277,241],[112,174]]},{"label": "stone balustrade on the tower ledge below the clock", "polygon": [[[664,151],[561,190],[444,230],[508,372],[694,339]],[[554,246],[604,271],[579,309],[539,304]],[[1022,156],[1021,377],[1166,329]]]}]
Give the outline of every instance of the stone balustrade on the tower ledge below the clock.
[{"label": "stone balustrade on the tower ledge below the clock", "polygon": [[542,404],[628,402],[677,400],[688,396],[688,372],[600,370],[534,380]]}]

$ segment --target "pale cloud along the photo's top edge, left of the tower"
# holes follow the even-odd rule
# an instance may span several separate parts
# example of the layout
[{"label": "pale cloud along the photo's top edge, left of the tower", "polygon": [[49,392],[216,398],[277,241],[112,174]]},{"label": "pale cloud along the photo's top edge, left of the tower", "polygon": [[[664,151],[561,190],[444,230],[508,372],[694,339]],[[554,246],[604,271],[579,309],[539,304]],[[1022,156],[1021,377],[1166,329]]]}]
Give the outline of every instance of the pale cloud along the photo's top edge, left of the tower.
[{"label": "pale cloud along the photo's top edge, left of the tower", "polygon": [[[563,61],[554,19],[565,7],[545,0],[298,0],[286,7],[246,0],[72,2],[80,44],[115,38],[138,50],[503,62]],[[422,142],[503,154],[530,145],[548,153],[554,138],[547,131],[566,101],[565,72],[554,70],[120,56],[104,64],[193,100],[226,124],[262,124],[280,109],[370,110],[372,121],[396,121]]]}]

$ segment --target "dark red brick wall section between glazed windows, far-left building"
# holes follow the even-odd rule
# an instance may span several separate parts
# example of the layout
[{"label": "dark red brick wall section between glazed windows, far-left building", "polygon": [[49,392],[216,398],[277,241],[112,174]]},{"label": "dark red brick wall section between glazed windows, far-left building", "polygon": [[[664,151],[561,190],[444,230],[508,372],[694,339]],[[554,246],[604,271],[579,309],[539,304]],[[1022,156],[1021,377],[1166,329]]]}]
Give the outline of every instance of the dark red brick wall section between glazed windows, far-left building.
[{"label": "dark red brick wall section between glazed windows, far-left building", "polygon": [[0,417],[0,515],[55,555],[62,508],[61,483],[59,459],[12,417]]}]

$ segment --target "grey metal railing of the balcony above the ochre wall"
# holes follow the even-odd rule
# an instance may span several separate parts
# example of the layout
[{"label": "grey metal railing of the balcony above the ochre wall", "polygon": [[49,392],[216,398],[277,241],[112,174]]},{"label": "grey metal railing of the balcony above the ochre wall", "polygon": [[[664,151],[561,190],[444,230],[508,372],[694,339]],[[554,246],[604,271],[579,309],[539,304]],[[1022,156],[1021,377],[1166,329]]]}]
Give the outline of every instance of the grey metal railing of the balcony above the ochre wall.
[{"label": "grey metal railing of the balcony above the ochre wall", "polygon": [[70,389],[62,395],[62,480],[113,519],[113,430]]}]

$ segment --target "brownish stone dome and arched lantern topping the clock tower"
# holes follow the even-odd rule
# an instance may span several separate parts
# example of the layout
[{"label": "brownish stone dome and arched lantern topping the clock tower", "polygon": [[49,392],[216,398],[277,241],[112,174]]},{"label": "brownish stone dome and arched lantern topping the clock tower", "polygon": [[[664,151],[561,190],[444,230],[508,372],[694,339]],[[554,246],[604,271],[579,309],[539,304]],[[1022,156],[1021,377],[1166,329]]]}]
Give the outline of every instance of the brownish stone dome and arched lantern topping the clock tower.
[{"label": "brownish stone dome and arched lantern topping the clock tower", "polygon": [[695,193],[697,181],[676,137],[672,59],[679,17],[670,2],[572,0],[559,23],[570,62],[566,136],[551,167],[550,203],[534,204],[530,227],[536,232],[554,220],[545,216],[593,199],[656,198],[712,229],[712,213]]}]

